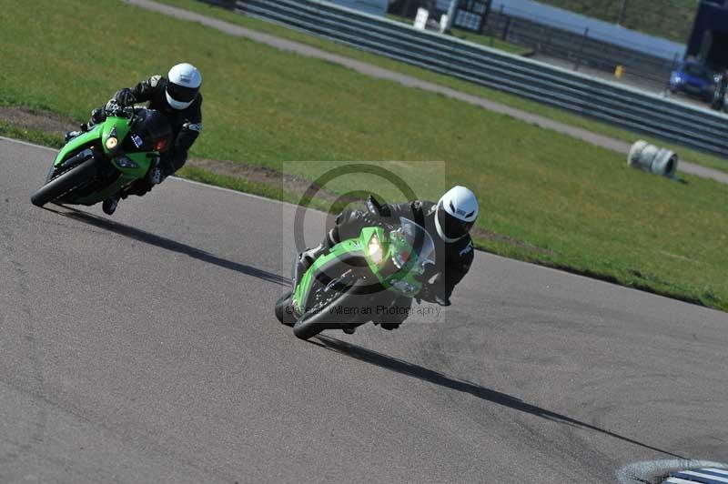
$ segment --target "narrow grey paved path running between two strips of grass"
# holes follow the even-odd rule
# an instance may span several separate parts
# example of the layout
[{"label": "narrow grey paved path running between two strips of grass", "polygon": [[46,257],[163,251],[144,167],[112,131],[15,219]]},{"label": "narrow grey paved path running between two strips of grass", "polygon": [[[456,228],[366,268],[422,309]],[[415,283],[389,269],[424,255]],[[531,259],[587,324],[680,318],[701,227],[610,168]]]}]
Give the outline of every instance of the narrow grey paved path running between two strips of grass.
[{"label": "narrow grey paved path running between two strips of grass", "polygon": [[[511,106],[505,106],[500,103],[490,101],[489,99],[485,99],[483,97],[472,96],[470,94],[463,93],[450,87],[440,86],[438,84],[423,81],[422,79],[417,77],[400,74],[398,72],[374,66],[366,62],[354,60],[343,55],[331,54],[310,45],[293,42],[287,39],[277,37],[275,35],[263,34],[255,30],[241,27],[239,25],[234,25],[228,22],[224,22],[222,20],[217,20],[217,18],[212,18],[206,15],[199,15],[197,13],[190,12],[171,5],[159,4],[152,0],[124,1],[127,4],[136,5],[164,15],[174,16],[178,19],[198,22],[202,25],[207,25],[210,28],[214,28],[220,32],[224,32],[229,35],[235,35],[238,37],[245,37],[260,44],[275,47],[280,50],[294,52],[298,55],[306,55],[307,57],[323,59],[334,64],[339,64],[339,66],[345,66],[366,76],[386,79],[389,81],[397,82],[403,86],[417,87],[418,89],[422,89],[424,91],[439,93],[443,96],[448,96],[452,99],[457,99],[473,106],[480,106],[495,113],[512,116],[517,119],[526,121],[527,123],[541,126],[544,129],[550,129],[551,131],[556,131],[557,133],[561,133],[563,135],[575,137],[577,139],[581,139],[583,141],[591,143],[592,145],[601,146],[603,148],[616,151],[618,153],[626,155],[630,152],[630,148],[632,147],[631,143],[625,143],[624,141],[614,139],[609,136],[598,135],[581,127],[565,125],[545,116],[534,115],[527,111],[522,111],[521,109],[516,109]],[[639,135],[635,135],[634,141],[637,141],[637,139],[639,139]],[[703,178],[710,178],[721,183],[728,183],[728,173],[724,173],[720,170],[716,170],[713,168],[707,168],[705,166],[695,165],[694,163],[690,163],[689,161],[685,160],[680,161],[678,171],[690,173],[694,176],[701,176]]]}]

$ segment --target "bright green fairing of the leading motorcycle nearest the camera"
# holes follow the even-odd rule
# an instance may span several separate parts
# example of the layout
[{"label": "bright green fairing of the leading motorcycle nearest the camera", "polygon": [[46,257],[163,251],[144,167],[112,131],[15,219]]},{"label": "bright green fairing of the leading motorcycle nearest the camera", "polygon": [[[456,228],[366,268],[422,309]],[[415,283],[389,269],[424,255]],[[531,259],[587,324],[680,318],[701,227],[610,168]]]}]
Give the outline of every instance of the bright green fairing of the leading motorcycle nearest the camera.
[{"label": "bright green fairing of the leading motorcycle nearest the camera", "polygon": [[410,284],[411,287],[414,287],[415,292],[420,291],[422,283],[417,278],[417,274],[415,274],[415,272],[411,270],[411,268],[416,263],[417,257],[413,257],[412,259],[410,259],[410,261],[408,261],[408,263],[404,267],[401,267],[394,274],[391,274],[388,277],[382,275],[381,267],[377,265],[371,257],[369,257],[369,241],[375,235],[379,238],[379,244],[381,245],[382,250],[385,253],[385,257],[382,259],[382,264],[388,261],[397,251],[406,251],[410,254],[414,254],[413,248],[406,242],[402,242],[399,247],[395,247],[395,244],[389,243],[390,240],[388,237],[388,233],[384,230],[384,228],[362,228],[358,238],[350,238],[348,240],[343,240],[339,242],[339,244],[331,248],[329,254],[319,257],[311,265],[311,267],[308,267],[308,270],[303,275],[303,277],[301,277],[301,280],[294,291],[294,301],[296,303],[296,309],[298,311],[298,314],[302,314],[304,312],[304,305],[308,300],[308,292],[312,287],[313,279],[314,277],[316,277],[315,275],[319,272],[321,267],[325,267],[332,262],[335,263],[338,258],[343,257],[349,253],[360,253],[360,255],[363,255],[367,259],[367,263],[372,274],[377,277],[379,283],[382,285],[382,287],[385,287],[385,289],[399,292],[399,290],[392,285],[395,284],[397,281],[401,280]]}]

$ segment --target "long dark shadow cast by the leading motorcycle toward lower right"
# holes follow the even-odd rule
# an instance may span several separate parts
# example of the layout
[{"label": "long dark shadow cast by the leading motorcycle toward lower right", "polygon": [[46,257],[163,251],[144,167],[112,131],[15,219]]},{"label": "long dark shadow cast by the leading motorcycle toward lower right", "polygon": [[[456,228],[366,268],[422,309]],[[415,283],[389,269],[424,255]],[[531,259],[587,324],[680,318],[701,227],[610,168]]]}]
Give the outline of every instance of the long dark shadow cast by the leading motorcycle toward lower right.
[{"label": "long dark shadow cast by the leading motorcycle toward lower right", "polygon": [[536,417],[547,418],[552,421],[565,423],[581,429],[594,430],[603,435],[613,437],[614,439],[620,439],[624,442],[629,442],[644,449],[654,450],[655,452],[661,452],[662,454],[666,454],[674,458],[688,459],[680,455],[673,454],[672,452],[669,452],[667,450],[658,449],[637,440],[624,437],[610,430],[600,429],[599,427],[593,426],[585,422],[581,422],[580,420],[577,420],[575,418],[552,412],[551,410],[547,410],[546,408],[531,405],[530,403],[524,402],[520,398],[511,397],[511,395],[491,390],[490,388],[481,387],[480,385],[467,380],[463,380],[460,378],[451,378],[438,371],[420,367],[420,365],[415,365],[414,363],[410,363],[409,361],[405,361],[403,359],[388,357],[387,355],[378,353],[377,351],[373,351],[367,348],[361,348],[357,345],[352,345],[350,343],[347,343],[346,341],[342,341],[337,338],[330,338],[321,335],[317,336],[316,338],[319,338],[321,343],[317,343],[312,340],[309,340],[309,342],[320,347],[327,348],[331,351],[336,351],[337,353],[346,355],[350,358],[359,359],[360,361],[365,361],[372,365],[377,365],[380,368],[387,368],[392,371],[396,371],[397,373],[407,375],[409,377],[419,378],[421,380],[434,383],[435,385],[440,385],[440,387],[452,388],[454,390],[470,393],[470,395],[474,397],[481,398],[483,400],[487,400],[498,405],[502,405],[503,407],[513,408],[521,412],[529,413],[531,415],[535,415]]}]

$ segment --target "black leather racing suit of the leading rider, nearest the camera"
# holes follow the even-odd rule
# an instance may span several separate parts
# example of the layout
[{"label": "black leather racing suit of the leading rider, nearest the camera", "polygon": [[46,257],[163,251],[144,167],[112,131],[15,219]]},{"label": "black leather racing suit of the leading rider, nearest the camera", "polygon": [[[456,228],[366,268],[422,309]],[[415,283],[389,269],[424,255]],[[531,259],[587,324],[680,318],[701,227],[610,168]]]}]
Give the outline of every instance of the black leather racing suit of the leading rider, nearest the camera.
[{"label": "black leather racing suit of the leading rider, nearest the camera", "polygon": [[[460,238],[456,242],[447,243],[437,232],[435,227],[435,209],[437,204],[427,201],[415,200],[409,203],[395,205],[383,205],[377,208],[376,200],[374,205],[368,204],[367,210],[344,211],[336,218],[336,223],[325,242],[328,247],[333,247],[341,240],[359,237],[363,227],[378,225],[385,222],[393,225],[399,224],[399,217],[409,218],[419,224],[430,233],[435,242],[435,267],[430,267],[424,278],[429,280],[420,294],[416,297],[428,302],[438,303],[442,306],[450,305],[450,295],[455,286],[462,280],[470,270],[470,264],[474,257],[472,239],[470,235]],[[410,308],[412,300],[409,297],[399,297],[394,302],[399,308]],[[381,322],[383,328],[396,328],[399,323],[409,316],[408,310],[396,311],[398,317],[387,316],[387,318],[375,319]]]}]

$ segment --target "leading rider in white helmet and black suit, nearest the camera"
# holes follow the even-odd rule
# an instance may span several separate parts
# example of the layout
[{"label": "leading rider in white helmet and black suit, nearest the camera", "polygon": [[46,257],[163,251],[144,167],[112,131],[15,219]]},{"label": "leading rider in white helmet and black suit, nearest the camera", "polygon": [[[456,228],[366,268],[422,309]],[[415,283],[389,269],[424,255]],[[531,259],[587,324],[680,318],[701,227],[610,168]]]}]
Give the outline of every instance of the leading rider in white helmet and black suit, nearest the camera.
[{"label": "leading rider in white helmet and black suit, nearest the camera", "polygon": [[[336,218],[319,247],[303,252],[294,267],[294,279],[298,280],[320,256],[329,252],[341,240],[359,237],[363,227],[380,223],[399,224],[399,217],[409,218],[430,233],[435,242],[435,266],[428,265],[423,279],[426,281],[415,298],[440,306],[450,306],[450,295],[455,286],[470,270],[473,245],[470,228],[478,218],[478,199],[466,187],[452,187],[440,197],[437,204],[414,200],[396,205],[379,205],[369,197],[366,210],[344,211]],[[374,323],[384,329],[399,328],[409,316],[412,299],[400,296],[391,306],[398,311],[375,317]]]}]

